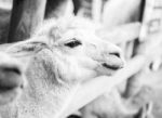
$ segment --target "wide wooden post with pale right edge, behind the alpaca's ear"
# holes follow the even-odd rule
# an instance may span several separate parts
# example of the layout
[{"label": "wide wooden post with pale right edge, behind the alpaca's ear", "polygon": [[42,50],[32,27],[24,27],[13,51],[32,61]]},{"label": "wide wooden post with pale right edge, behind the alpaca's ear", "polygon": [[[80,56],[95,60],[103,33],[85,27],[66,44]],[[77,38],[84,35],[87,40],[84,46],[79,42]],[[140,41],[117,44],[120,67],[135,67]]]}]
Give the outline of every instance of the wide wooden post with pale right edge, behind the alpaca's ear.
[{"label": "wide wooden post with pale right edge, behind the alpaca's ear", "polygon": [[25,40],[44,18],[46,0],[13,0],[8,42]]}]

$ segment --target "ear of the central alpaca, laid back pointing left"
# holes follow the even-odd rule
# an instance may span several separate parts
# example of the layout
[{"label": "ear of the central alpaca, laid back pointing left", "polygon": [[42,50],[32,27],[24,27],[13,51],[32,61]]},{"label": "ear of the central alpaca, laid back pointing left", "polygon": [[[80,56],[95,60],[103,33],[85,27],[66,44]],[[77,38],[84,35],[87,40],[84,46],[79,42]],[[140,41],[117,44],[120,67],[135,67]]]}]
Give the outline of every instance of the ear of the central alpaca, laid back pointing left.
[{"label": "ear of the central alpaca, laid back pointing left", "polygon": [[26,70],[28,67],[28,63],[36,55],[37,52],[46,48],[48,44],[40,40],[26,40],[22,42],[17,42],[11,47],[9,47],[5,52],[15,57],[19,63],[23,64],[23,69]]}]

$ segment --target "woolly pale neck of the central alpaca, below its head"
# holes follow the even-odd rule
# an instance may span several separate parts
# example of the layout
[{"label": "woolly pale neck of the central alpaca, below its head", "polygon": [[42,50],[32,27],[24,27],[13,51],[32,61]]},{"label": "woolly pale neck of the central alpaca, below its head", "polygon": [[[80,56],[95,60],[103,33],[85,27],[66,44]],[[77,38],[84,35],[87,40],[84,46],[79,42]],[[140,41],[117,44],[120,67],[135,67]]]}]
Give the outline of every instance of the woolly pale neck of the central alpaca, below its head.
[{"label": "woolly pale neck of the central alpaca, below its head", "polygon": [[45,56],[33,57],[26,73],[27,88],[19,100],[0,109],[2,118],[57,118],[67,107],[78,82],[59,81]]}]

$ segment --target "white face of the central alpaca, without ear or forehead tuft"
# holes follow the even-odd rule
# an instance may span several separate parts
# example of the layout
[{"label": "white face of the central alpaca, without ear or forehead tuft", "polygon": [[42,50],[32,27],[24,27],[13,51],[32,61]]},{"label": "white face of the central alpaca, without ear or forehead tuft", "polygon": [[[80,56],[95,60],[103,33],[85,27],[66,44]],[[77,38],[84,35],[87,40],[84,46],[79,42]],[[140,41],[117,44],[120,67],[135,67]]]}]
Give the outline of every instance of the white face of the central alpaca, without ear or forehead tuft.
[{"label": "white face of the central alpaca, without ear or forehead tuft", "polygon": [[111,76],[123,67],[120,49],[93,31],[71,28],[59,35],[55,36],[52,52],[62,78],[82,80],[100,75]]}]

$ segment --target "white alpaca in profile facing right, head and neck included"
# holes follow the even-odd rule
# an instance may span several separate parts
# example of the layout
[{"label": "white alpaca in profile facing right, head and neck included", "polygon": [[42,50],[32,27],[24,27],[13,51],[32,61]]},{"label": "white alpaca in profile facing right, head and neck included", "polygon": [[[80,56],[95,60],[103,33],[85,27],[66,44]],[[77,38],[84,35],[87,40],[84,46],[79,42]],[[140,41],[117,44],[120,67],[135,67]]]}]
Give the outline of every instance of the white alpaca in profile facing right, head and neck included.
[{"label": "white alpaca in profile facing right, head and neck included", "polygon": [[1,118],[59,118],[81,81],[111,76],[124,65],[118,47],[100,40],[91,23],[76,17],[46,21],[30,39],[5,52],[30,60],[28,84],[18,101],[0,107]]}]

